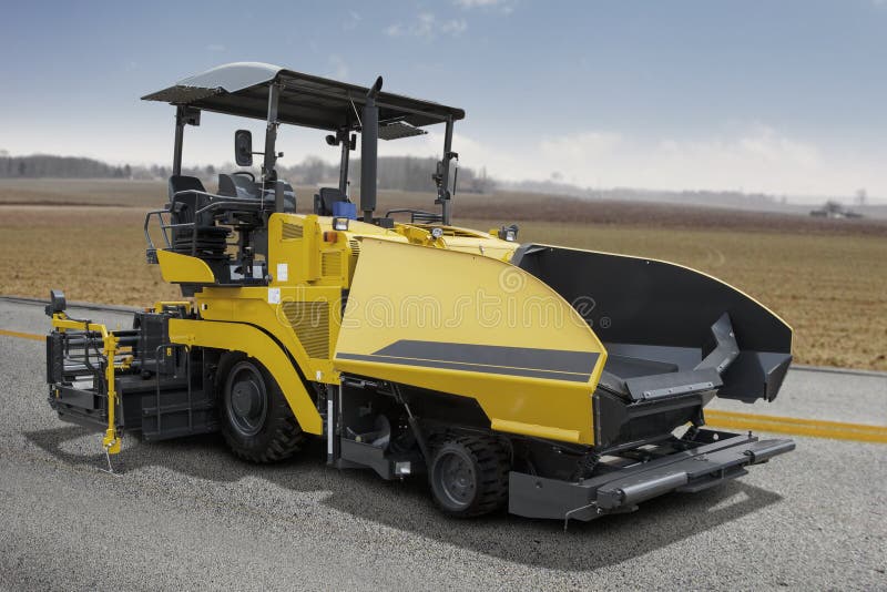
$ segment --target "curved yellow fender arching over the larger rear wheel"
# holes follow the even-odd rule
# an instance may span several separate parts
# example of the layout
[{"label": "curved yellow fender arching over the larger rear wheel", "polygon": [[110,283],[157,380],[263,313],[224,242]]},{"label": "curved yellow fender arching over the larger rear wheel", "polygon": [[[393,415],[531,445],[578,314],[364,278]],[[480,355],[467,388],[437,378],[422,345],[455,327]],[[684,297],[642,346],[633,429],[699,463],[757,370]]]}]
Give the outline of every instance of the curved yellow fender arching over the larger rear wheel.
[{"label": "curved yellow fender arching over the larger rear wheel", "polygon": [[284,392],[302,429],[323,433],[323,421],[293,363],[274,340],[259,329],[243,323],[170,319],[170,340],[187,346],[243,351],[256,358],[272,374]]}]

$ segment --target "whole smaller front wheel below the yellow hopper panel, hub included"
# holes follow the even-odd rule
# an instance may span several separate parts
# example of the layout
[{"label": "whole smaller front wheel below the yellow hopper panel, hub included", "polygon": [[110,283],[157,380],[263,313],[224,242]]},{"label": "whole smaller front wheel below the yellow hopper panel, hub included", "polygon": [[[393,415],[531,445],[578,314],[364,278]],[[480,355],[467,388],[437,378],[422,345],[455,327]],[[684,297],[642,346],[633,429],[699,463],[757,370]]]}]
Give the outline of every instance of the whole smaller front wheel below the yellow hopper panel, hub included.
[{"label": "whole smaller front wheel below the yellow hopper panel, hub included", "polygon": [[446,440],[434,453],[429,480],[438,507],[456,517],[481,516],[508,499],[508,451],[493,438]]}]

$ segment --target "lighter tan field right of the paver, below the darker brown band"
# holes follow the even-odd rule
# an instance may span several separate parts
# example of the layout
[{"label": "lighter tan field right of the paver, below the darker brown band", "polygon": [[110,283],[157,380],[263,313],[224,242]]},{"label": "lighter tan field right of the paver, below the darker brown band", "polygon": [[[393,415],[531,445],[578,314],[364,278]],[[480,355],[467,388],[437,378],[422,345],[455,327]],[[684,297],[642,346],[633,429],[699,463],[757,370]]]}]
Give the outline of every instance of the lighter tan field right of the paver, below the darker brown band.
[{"label": "lighter tan field right of the paver, below the darker brown band", "polygon": [[792,325],[796,361],[887,370],[885,238],[536,222],[520,239],[687,265]]}]

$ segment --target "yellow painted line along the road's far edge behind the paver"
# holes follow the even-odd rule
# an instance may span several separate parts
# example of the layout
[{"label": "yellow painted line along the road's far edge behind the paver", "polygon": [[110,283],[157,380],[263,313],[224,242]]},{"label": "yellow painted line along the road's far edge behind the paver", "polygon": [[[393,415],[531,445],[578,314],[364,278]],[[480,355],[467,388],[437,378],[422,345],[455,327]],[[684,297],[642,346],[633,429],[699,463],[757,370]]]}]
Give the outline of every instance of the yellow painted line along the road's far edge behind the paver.
[{"label": "yellow painted line along the road's far edge behind the paver", "polygon": [[[20,339],[33,339],[34,341],[45,339],[43,335],[7,329],[0,329],[0,335]],[[705,422],[713,428],[761,430],[813,438],[887,443],[887,427],[883,426],[865,426],[863,423],[802,419],[797,417],[762,416],[714,409],[705,411]]]}]

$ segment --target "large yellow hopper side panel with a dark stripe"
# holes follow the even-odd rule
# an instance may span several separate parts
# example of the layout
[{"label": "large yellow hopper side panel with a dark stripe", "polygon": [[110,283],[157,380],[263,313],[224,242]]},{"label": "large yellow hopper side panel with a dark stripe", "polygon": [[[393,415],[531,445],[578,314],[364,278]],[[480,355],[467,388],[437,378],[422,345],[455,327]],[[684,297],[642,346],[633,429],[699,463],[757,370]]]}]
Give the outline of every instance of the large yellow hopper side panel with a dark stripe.
[{"label": "large yellow hopper side panel with a dark stripe", "polygon": [[[461,360],[408,350],[379,355],[394,344],[442,345]],[[465,345],[480,347],[460,351]],[[485,348],[499,361],[465,358]],[[510,350],[516,358],[503,359]],[[553,371],[541,359],[518,359],[521,350],[589,363],[572,374]],[[471,397],[500,426],[593,443],[591,395],[605,359],[569,303],[522,269],[482,255],[364,238],[334,367]]]}]

